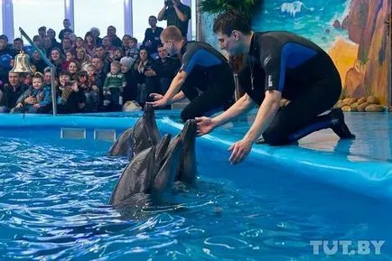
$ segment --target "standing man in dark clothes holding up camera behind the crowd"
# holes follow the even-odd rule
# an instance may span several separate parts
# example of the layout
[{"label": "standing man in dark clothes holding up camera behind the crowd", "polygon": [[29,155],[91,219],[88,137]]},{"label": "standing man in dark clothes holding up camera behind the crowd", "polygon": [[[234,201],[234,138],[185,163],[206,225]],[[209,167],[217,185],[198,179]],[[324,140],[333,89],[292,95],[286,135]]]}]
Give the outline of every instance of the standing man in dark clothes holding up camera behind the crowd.
[{"label": "standing man in dark clothes holding up camera behind the crowd", "polygon": [[181,0],[165,0],[163,8],[158,14],[158,21],[167,20],[167,26],[174,25],[180,29],[185,41],[190,19],[191,7],[183,5]]}]

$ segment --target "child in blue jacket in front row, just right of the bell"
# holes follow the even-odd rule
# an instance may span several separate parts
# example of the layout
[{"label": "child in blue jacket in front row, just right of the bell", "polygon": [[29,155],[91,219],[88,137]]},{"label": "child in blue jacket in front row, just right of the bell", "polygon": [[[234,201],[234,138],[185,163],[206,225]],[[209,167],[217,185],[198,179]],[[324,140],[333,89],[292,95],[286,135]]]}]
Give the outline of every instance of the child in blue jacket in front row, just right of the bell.
[{"label": "child in blue jacket in front row, just right of the bell", "polygon": [[42,73],[33,76],[33,86],[30,86],[16,101],[11,113],[46,113],[51,104],[51,88],[43,85]]}]

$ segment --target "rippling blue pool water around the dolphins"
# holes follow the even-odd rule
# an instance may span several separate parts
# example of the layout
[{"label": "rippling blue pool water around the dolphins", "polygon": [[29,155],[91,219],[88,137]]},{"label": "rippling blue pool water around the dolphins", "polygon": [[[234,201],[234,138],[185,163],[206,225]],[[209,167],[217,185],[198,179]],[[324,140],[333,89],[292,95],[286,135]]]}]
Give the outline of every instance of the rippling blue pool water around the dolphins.
[{"label": "rippling blue pool water around the dolphins", "polygon": [[[390,260],[390,205],[198,144],[198,187],[125,218],[107,205],[126,159],[60,129],[0,131],[0,260]],[[385,240],[313,255],[310,240]]]}]

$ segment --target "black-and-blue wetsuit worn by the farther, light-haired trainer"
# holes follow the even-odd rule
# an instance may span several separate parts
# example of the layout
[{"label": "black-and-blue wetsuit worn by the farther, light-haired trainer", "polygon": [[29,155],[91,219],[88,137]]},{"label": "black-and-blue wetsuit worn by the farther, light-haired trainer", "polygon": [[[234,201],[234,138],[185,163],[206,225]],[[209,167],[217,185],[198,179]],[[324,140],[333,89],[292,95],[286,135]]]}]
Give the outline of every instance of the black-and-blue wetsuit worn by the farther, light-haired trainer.
[{"label": "black-and-blue wetsuit worn by the farther, light-haired trainer", "polygon": [[210,116],[228,107],[234,95],[229,61],[205,42],[187,42],[181,52],[180,70],[187,73],[182,91],[191,100],[182,110],[182,120]]}]

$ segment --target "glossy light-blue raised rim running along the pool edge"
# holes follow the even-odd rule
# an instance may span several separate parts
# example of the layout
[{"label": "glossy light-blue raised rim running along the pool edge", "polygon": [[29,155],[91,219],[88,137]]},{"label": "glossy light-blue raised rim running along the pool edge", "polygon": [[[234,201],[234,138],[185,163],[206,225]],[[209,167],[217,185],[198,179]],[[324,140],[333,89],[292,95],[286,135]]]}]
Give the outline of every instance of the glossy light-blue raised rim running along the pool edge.
[{"label": "glossy light-blue raised rim running along the pool edge", "polygon": [[[157,113],[157,124],[161,133],[178,134],[182,124],[171,119],[175,112]],[[5,128],[45,128],[79,127],[86,129],[114,129],[120,134],[126,128],[135,125],[141,112],[129,115],[3,115],[0,127]],[[197,145],[213,149],[214,152],[228,154],[229,145],[235,137],[229,135],[204,135],[197,139]],[[213,161],[214,159],[211,159]],[[228,157],[229,160],[229,157]],[[272,147],[257,145],[252,149],[246,162],[260,165],[260,173],[247,173],[252,182],[267,182],[266,175],[271,169],[285,172],[287,175],[308,178],[317,182],[355,191],[378,200],[392,200],[392,163],[390,162],[354,162],[347,154],[325,154],[299,146]],[[238,166],[233,166],[233,168]],[[243,172],[244,168],[238,168]],[[304,191],[305,192],[305,191]]]}]

